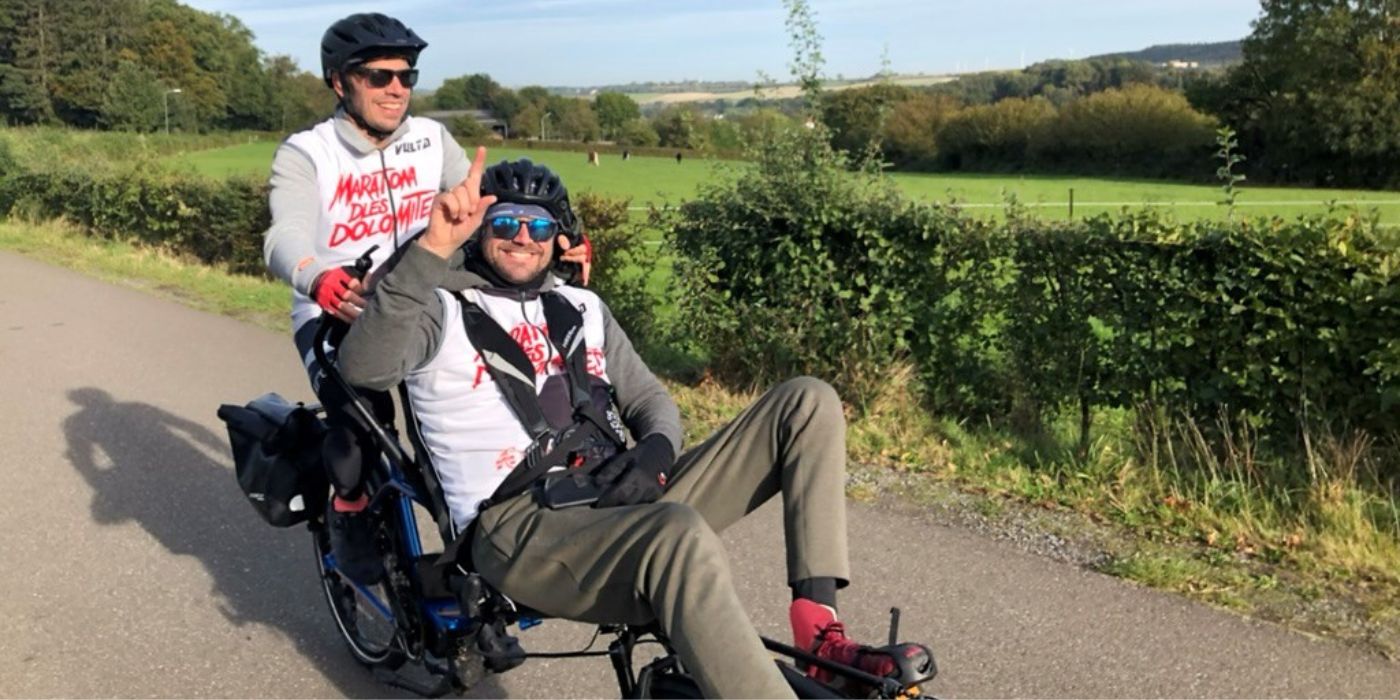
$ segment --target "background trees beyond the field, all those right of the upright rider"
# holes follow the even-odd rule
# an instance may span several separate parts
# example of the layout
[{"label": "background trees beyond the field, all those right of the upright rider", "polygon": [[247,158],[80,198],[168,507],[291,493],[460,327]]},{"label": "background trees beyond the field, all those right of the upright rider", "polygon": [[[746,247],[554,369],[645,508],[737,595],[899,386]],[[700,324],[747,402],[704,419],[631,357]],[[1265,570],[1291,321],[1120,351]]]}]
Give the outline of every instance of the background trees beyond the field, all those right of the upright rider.
[{"label": "background trees beyond the field, all those right of the upright rider", "polygon": [[[918,171],[1060,171],[1207,179],[1229,126],[1252,182],[1400,186],[1400,4],[1263,0],[1243,60],[1182,70],[1120,56],[1051,60],[931,85],[825,92],[832,144]],[[512,136],[741,148],[806,119],[798,99],[641,109],[627,95],[514,92],[449,80],[438,108],[477,108]],[[469,126],[469,125],[466,125]]]}]

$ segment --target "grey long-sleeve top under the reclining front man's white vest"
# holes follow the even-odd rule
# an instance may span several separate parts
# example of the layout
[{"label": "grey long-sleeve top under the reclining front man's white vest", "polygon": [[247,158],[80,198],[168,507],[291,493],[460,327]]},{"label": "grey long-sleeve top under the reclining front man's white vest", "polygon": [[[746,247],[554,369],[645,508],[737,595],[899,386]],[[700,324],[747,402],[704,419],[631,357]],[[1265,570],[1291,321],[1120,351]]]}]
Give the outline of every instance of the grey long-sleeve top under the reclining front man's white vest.
[{"label": "grey long-sleeve top under the reclining front man's white vest", "polygon": [[[458,332],[442,328],[444,309],[437,288],[461,291],[489,286],[462,267],[461,253],[449,262],[420,245],[409,245],[400,255],[375,284],[368,305],[340,343],[337,363],[353,385],[370,389],[395,386],[437,354],[444,333]],[[549,276],[542,290],[553,286],[554,277]],[[606,304],[601,311],[603,357],[608,378],[617,392],[623,423],[638,440],[651,434],[665,435],[679,455],[680,410],[633,349]]]}]

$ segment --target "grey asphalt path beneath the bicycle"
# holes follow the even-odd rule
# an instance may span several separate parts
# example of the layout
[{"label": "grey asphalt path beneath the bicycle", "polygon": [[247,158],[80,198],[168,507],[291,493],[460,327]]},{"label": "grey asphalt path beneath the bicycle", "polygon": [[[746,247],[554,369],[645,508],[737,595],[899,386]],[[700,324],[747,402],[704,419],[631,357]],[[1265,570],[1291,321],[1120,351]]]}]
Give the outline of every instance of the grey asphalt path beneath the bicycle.
[{"label": "grey asphalt path beneath the bicycle", "polygon": [[[403,696],[342,647],[302,529],[242,503],[214,410],[308,398],[290,339],[0,253],[0,696]],[[944,697],[1390,697],[1400,665],[851,505],[843,617],[934,647]],[[778,512],[725,533],[787,637]],[[529,650],[573,648],[550,620]],[[531,661],[479,696],[616,696],[602,659]]]}]

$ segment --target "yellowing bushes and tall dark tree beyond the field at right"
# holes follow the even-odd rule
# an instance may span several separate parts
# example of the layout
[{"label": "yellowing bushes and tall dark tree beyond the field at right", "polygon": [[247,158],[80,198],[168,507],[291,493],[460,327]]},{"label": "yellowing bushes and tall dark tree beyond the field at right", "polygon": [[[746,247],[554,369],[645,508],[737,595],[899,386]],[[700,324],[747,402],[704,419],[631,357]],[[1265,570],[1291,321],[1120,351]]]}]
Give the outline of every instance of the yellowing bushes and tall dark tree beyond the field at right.
[{"label": "yellowing bushes and tall dark tree beyond the field at right", "polygon": [[825,113],[837,146],[896,167],[1204,176],[1229,126],[1253,182],[1400,188],[1400,3],[1261,0],[1242,50],[1219,70],[1103,57],[878,85]]}]

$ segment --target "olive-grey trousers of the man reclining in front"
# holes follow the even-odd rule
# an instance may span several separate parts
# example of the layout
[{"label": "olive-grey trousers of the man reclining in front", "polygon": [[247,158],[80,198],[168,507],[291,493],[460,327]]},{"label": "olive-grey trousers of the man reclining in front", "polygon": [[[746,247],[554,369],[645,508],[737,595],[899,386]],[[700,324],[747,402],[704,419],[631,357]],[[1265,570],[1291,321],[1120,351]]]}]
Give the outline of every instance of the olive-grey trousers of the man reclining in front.
[{"label": "olive-grey trousers of the man reclining in front", "polygon": [[844,585],[844,483],[840,399],[804,377],[680,455],[657,503],[552,511],[524,494],[487,510],[473,563],[497,589],[546,615],[658,620],[707,697],[792,697],[743,612],[717,532],[781,493],[787,582]]}]

